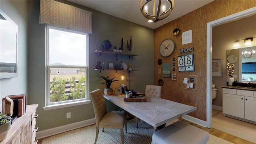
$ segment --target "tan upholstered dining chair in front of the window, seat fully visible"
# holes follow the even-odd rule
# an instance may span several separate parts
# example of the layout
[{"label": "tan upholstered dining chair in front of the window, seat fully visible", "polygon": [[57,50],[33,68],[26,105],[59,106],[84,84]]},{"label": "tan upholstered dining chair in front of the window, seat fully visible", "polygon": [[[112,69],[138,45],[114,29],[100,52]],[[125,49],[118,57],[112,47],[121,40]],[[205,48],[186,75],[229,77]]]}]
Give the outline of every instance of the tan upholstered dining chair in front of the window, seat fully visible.
[{"label": "tan upholstered dining chair in front of the window, seat fully visible", "polygon": [[99,127],[102,127],[102,132],[104,132],[104,128],[120,129],[121,142],[124,144],[124,125],[125,132],[127,133],[126,112],[107,112],[105,99],[100,89],[90,92],[90,98],[96,118],[96,137],[94,144],[96,144],[98,139]]}]

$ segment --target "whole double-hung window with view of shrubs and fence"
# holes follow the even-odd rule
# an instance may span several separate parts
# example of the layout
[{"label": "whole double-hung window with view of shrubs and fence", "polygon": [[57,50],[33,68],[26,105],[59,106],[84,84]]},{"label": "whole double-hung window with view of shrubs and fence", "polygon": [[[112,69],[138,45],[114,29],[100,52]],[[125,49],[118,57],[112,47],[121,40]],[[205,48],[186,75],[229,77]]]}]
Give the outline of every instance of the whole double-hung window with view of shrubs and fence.
[{"label": "whole double-hung window with view of shrubs and fence", "polygon": [[88,100],[88,34],[46,25],[46,105]]}]

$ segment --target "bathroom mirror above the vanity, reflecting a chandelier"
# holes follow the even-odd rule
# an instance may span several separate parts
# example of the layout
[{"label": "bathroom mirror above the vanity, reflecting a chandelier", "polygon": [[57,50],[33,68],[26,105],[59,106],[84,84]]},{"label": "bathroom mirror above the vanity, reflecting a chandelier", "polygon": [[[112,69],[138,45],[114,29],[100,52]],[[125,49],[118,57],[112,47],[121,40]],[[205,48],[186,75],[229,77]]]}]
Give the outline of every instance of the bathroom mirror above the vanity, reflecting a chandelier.
[{"label": "bathroom mirror above the vanity, reflecting a chandelier", "polygon": [[237,76],[235,80],[256,83],[256,54],[251,58],[242,56],[242,52],[248,48],[256,51],[256,46],[227,50],[227,62],[234,64],[234,77]]}]

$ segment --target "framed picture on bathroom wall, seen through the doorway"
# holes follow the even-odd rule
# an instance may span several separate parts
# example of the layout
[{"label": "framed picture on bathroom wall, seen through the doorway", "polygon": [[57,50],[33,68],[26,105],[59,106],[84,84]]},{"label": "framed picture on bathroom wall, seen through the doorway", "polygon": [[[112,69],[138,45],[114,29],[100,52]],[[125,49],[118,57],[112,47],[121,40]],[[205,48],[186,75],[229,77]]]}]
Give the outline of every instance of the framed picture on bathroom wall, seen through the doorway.
[{"label": "framed picture on bathroom wall, seen through the doorway", "polygon": [[212,76],[222,77],[222,59],[212,60]]}]

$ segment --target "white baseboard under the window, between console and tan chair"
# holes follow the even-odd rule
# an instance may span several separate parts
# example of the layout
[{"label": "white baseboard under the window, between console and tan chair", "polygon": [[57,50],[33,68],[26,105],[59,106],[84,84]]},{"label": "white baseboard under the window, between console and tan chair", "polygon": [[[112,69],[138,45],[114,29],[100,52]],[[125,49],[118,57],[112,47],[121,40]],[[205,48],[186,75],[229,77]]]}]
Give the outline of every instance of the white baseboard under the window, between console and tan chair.
[{"label": "white baseboard under the window, between console and tan chair", "polygon": [[36,132],[36,139],[45,138],[48,136],[53,136],[55,134],[60,134],[62,132],[67,132],[70,130],[74,130],[76,128],[82,128],[84,126],[95,124],[95,118],[89,119],[89,120],[83,120],[80,122],[72,123],[72,124],[66,124],[64,126],[58,126],[56,128],[50,128],[47,130],[42,130],[39,132]]}]

